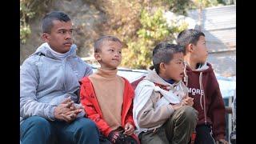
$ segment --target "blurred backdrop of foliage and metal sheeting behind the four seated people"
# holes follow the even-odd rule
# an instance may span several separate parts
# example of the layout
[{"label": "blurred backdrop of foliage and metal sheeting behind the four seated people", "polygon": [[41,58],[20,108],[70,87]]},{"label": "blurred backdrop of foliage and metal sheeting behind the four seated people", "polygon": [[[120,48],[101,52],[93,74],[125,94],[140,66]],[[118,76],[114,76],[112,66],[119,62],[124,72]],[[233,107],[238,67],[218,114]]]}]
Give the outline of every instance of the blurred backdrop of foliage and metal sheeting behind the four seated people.
[{"label": "blurred backdrop of foliage and metal sheeting behind the four seated people", "polygon": [[175,42],[180,31],[202,30],[208,61],[224,77],[235,76],[235,0],[20,0],[20,64],[42,44],[41,20],[52,10],[69,14],[78,56],[90,64],[94,40],[104,34],[125,43],[122,67],[146,69],[154,46]]}]

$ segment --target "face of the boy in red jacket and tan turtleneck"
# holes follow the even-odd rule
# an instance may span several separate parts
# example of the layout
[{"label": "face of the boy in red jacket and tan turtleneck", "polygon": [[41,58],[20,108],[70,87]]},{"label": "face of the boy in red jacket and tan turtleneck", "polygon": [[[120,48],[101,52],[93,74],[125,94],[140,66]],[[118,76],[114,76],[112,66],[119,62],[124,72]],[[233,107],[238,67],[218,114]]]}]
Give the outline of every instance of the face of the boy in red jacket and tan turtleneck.
[{"label": "face of the boy in red jacket and tan turtleneck", "polygon": [[106,70],[116,69],[122,61],[122,44],[113,41],[104,41],[101,50],[94,54],[101,67]]}]

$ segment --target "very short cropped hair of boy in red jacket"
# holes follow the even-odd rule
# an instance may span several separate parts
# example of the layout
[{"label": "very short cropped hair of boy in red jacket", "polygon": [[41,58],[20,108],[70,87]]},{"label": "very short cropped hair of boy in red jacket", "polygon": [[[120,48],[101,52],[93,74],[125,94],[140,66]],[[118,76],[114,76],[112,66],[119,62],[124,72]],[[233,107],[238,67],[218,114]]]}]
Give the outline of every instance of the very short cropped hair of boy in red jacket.
[{"label": "very short cropped hair of boy in red jacket", "polygon": [[98,53],[101,51],[102,44],[105,41],[119,42],[122,45],[122,42],[120,41],[120,39],[114,37],[113,35],[105,35],[105,36],[102,36],[101,38],[98,38],[94,42],[94,52],[95,53]]}]

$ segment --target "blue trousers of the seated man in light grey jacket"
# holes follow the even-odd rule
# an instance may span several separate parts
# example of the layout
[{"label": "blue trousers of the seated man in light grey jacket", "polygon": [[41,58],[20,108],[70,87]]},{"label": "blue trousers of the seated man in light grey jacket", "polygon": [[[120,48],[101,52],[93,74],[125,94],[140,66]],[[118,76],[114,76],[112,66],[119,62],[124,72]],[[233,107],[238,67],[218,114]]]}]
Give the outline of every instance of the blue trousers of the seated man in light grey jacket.
[{"label": "blue trousers of the seated man in light grey jacket", "polygon": [[47,121],[39,116],[32,116],[20,126],[22,144],[54,143],[99,143],[98,127],[88,118],[77,118],[74,122]]}]

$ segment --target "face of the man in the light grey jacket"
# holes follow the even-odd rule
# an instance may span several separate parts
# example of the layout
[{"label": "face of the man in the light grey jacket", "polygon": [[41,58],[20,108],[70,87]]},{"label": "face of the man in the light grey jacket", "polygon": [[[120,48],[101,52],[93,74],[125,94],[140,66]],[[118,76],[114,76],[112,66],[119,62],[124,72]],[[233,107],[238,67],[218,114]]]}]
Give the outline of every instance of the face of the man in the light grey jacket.
[{"label": "face of the man in the light grey jacket", "polygon": [[43,34],[45,42],[48,42],[50,48],[58,53],[66,53],[70,50],[73,43],[72,23],[62,22],[58,20],[53,21],[54,26],[50,30],[50,34]]}]

